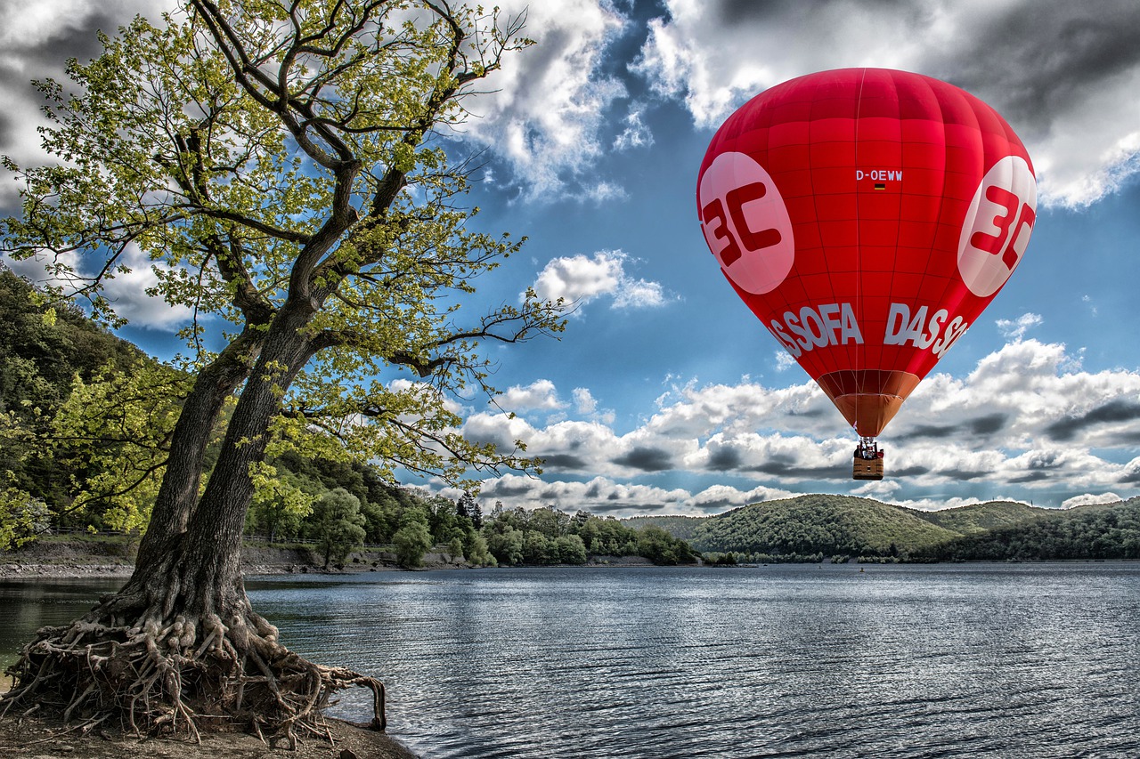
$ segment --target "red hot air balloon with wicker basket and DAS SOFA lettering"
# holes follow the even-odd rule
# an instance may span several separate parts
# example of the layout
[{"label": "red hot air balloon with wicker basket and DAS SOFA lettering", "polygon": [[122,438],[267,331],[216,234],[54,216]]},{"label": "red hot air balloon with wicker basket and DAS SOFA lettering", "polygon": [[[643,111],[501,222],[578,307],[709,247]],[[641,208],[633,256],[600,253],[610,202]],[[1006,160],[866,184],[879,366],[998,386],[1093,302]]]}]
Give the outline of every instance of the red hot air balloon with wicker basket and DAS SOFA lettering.
[{"label": "red hot air balloon with wicker basket and DAS SOFA lettering", "polygon": [[749,100],[709,144],[697,207],[736,294],[823,389],[882,479],[876,438],[1025,255],[1025,146],[946,82],[844,68]]}]

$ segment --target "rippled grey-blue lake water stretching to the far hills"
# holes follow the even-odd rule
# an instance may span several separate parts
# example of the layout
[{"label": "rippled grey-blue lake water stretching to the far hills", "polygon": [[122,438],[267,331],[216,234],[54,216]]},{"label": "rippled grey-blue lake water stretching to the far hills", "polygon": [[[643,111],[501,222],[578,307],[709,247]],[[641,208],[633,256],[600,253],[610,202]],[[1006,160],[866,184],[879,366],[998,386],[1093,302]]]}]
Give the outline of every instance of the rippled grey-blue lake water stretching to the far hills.
[{"label": "rippled grey-blue lake water stretching to the far hills", "polygon": [[[0,582],[0,661],[117,580]],[[1140,564],[251,578],[442,757],[1138,757]],[[367,719],[348,692],[335,713]]]}]

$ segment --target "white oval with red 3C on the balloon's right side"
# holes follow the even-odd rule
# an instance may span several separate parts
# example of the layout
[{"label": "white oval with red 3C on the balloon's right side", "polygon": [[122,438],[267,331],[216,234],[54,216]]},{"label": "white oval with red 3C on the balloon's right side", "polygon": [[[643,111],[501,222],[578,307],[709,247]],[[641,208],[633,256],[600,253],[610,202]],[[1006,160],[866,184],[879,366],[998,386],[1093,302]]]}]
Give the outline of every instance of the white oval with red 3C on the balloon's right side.
[{"label": "white oval with red 3C on the balloon's right side", "polygon": [[958,272],[978,297],[996,293],[1025,255],[1037,218],[1037,180],[1025,158],[995,163],[974,193],[958,239]]}]

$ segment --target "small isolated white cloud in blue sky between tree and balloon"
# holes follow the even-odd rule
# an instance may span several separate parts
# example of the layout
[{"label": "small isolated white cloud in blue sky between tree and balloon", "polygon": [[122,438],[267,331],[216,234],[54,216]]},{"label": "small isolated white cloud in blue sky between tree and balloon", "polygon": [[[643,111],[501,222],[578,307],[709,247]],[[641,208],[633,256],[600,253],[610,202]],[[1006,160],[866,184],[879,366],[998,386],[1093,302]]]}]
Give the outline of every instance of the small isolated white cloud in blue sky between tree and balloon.
[{"label": "small isolated white cloud in blue sky between tree and balloon", "polygon": [[629,258],[621,251],[600,251],[591,256],[581,253],[552,259],[535,280],[535,292],[542,299],[564,299],[585,304],[602,295],[613,296],[613,308],[652,308],[666,302],[661,285],[634,279],[625,270]]}]

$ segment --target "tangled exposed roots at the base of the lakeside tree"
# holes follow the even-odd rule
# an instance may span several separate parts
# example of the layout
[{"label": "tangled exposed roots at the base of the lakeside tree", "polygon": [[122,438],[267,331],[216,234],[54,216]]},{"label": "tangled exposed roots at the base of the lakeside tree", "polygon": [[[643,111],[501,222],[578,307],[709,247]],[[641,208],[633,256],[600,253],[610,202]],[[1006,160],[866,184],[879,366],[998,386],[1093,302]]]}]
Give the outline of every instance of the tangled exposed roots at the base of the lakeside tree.
[{"label": "tangled exposed roots at the base of the lakeside tree", "polygon": [[128,626],[115,606],[105,602],[67,627],[40,629],[7,670],[14,685],[0,716],[43,709],[64,721],[117,717],[132,734],[172,732],[198,742],[201,729],[237,727],[295,746],[299,735],[327,736],[321,710],[329,697],[361,686],[373,693],[370,727],[385,727],[380,680],[288,651],[247,602],[228,623],[214,614],[150,614]]}]

